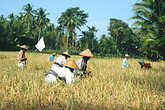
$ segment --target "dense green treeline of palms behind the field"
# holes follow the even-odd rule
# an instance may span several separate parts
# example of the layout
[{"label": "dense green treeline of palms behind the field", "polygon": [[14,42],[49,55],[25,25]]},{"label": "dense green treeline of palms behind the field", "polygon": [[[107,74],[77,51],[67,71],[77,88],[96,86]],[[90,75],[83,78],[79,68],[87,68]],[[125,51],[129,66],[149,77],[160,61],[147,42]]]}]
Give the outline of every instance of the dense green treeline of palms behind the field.
[{"label": "dense green treeline of palms behind the field", "polygon": [[[133,28],[120,19],[110,18],[108,34],[96,36],[98,29],[86,26],[88,13],[79,7],[69,8],[61,13],[58,26],[50,23],[46,9],[33,10],[26,4],[19,15],[11,13],[7,18],[0,16],[0,50],[18,50],[35,45],[44,37],[46,50],[82,51],[89,48],[94,55],[121,57],[146,57],[154,61],[165,58],[165,2],[163,0],[142,0],[133,5]],[[77,35],[76,30],[81,34]]]}]

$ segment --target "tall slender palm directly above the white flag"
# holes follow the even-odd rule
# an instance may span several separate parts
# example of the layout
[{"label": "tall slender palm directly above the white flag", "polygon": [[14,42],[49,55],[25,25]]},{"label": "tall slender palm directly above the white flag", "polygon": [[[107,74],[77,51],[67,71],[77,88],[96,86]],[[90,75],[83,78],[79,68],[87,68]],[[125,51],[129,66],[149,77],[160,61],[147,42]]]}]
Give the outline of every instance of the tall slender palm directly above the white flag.
[{"label": "tall slender palm directly above the white flag", "polygon": [[49,18],[46,17],[47,15],[49,15],[49,13],[46,13],[46,9],[39,8],[38,12],[36,11],[37,26],[38,26],[38,31],[39,31],[38,41],[40,39],[40,34],[41,34],[42,28],[44,26],[47,26],[48,23],[50,22]]}]

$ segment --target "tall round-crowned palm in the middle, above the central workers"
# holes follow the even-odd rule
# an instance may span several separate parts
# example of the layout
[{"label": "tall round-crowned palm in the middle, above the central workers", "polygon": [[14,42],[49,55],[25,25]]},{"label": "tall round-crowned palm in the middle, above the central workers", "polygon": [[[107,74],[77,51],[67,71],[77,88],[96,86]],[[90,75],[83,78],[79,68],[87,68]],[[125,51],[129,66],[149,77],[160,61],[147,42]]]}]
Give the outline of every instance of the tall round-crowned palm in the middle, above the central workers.
[{"label": "tall round-crowned palm in the middle, above the central workers", "polygon": [[75,29],[79,29],[80,27],[85,25],[88,17],[87,13],[84,13],[84,11],[80,10],[79,7],[75,8],[69,8],[66,10],[66,12],[62,12],[61,17],[58,19],[58,24],[60,24],[60,27],[64,28],[66,30],[67,34],[67,45],[66,49],[68,48],[68,39],[69,35],[72,34],[73,41],[76,39],[75,36]]}]

